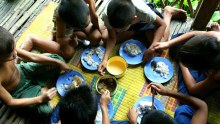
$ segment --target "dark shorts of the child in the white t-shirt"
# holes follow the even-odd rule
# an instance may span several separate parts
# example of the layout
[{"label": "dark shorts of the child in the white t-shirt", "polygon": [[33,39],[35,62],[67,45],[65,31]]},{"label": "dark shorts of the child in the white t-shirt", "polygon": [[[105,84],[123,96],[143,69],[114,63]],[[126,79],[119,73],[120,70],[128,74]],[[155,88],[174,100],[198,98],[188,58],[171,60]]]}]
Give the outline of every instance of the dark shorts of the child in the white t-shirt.
[{"label": "dark shorts of the child in the white t-shirt", "polygon": [[[146,3],[152,11],[154,11],[159,17],[163,18],[162,14],[156,9],[154,3]],[[154,24],[146,23],[146,22],[138,22],[133,24],[128,30],[129,31],[147,31],[147,30],[155,30],[156,26]]]}]

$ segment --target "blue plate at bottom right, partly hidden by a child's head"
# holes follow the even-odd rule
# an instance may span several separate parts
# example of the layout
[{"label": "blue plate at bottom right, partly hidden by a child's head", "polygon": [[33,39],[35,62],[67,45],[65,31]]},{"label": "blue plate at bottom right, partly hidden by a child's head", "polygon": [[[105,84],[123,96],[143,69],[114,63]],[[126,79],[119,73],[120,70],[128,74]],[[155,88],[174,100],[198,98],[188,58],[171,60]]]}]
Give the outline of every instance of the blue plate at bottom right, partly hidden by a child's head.
[{"label": "blue plate at bottom right, partly hidden by a child's head", "polygon": [[[151,102],[152,103],[152,96],[144,96],[144,97],[141,97],[140,99],[138,99],[135,104],[134,104],[134,107],[135,108],[139,108],[140,107],[140,102]],[[161,110],[161,111],[164,111],[164,105],[156,98],[154,98],[154,106],[157,110]],[[138,124],[140,124],[141,122],[141,118],[143,117],[143,114],[140,114],[138,115],[137,117],[137,122]]]}]

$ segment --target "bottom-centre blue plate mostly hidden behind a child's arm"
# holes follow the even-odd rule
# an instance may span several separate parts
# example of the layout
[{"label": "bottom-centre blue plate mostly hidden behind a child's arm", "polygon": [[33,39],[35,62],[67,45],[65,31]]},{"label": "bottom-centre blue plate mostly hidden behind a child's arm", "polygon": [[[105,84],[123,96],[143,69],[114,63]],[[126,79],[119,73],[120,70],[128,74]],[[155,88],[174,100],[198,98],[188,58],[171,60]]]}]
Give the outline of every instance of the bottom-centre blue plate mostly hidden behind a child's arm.
[{"label": "bottom-centre blue plate mostly hidden behind a child's arm", "polygon": [[[100,98],[101,98],[101,95],[97,95],[98,111],[97,111],[96,117],[98,117],[98,116],[102,117],[102,110],[101,110],[101,107],[100,107]],[[110,100],[109,103],[108,103],[108,116],[109,116],[110,121],[113,119],[113,112],[114,112],[114,108],[113,108],[112,101]],[[100,121],[100,120],[96,119],[96,124],[102,124],[102,121]]]}]

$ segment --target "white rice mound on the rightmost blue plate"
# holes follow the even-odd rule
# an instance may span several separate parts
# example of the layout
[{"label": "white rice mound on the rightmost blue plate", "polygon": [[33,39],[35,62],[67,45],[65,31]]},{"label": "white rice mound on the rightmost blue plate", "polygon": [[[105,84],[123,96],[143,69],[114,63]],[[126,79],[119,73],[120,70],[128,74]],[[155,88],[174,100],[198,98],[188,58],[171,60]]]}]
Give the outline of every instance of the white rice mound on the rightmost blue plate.
[{"label": "white rice mound on the rightmost blue plate", "polygon": [[168,65],[166,65],[164,62],[157,62],[155,70],[160,74],[163,78],[168,78],[169,76],[169,68]]}]

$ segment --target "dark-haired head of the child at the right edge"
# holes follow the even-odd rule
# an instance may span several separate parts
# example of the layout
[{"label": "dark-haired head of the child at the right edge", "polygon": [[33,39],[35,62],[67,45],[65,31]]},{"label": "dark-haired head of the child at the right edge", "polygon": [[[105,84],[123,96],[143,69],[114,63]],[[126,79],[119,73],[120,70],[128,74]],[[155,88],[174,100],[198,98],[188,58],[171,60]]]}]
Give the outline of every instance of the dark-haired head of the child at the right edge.
[{"label": "dark-haired head of the child at the right edge", "polygon": [[199,71],[220,69],[220,43],[215,37],[194,36],[180,47],[177,58],[191,69]]}]

